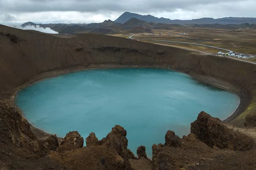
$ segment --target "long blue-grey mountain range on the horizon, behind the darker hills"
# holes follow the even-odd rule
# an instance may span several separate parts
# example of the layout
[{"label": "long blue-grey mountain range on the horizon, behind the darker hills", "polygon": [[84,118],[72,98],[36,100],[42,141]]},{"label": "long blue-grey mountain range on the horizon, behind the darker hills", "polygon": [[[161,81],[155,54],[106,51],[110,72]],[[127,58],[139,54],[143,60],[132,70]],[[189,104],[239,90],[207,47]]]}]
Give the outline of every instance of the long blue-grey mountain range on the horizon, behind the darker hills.
[{"label": "long blue-grey mountain range on the horizon, behind the darker hills", "polygon": [[166,24],[223,24],[223,25],[240,25],[243,23],[256,23],[256,18],[246,18],[246,17],[225,17],[225,18],[200,18],[194,20],[170,20],[168,18],[158,18],[152,15],[140,15],[130,12],[123,13],[120,17],[118,17],[115,22],[116,23],[125,23],[131,18],[137,18],[139,20],[146,21],[148,23],[166,23]]}]

